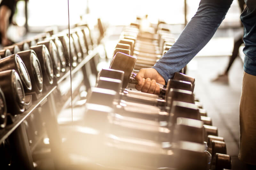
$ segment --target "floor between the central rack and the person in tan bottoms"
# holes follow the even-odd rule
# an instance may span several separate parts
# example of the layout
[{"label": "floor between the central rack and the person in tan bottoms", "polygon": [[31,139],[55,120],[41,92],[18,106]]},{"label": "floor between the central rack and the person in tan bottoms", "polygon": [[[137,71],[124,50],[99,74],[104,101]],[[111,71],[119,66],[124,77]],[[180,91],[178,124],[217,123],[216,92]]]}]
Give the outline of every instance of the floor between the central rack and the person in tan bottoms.
[{"label": "floor between the central rack and the person in tan bottoms", "polygon": [[195,94],[224,137],[227,152],[232,157],[232,169],[245,166],[238,159],[239,152],[239,100],[242,88],[243,63],[239,57],[233,63],[228,81],[211,82],[228,64],[228,56],[195,57],[188,65],[189,76],[196,78]]}]

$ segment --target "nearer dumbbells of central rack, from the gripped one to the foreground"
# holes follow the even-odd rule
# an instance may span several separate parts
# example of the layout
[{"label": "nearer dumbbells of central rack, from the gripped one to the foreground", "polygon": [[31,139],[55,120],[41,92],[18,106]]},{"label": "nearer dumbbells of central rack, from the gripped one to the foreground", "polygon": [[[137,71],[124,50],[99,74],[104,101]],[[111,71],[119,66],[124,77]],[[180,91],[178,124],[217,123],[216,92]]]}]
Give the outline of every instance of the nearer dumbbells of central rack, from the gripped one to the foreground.
[{"label": "nearer dumbbells of central rack, from the gripped one to the foreground", "polygon": [[101,140],[97,147],[113,153],[113,160],[106,163],[145,169],[231,169],[223,137],[195,104],[194,78],[175,73],[162,97],[128,90],[130,83],[136,83],[132,73],[137,57],[114,54],[110,69],[100,71],[96,87],[88,93],[85,115],[85,125],[104,134],[99,138],[90,134]]}]

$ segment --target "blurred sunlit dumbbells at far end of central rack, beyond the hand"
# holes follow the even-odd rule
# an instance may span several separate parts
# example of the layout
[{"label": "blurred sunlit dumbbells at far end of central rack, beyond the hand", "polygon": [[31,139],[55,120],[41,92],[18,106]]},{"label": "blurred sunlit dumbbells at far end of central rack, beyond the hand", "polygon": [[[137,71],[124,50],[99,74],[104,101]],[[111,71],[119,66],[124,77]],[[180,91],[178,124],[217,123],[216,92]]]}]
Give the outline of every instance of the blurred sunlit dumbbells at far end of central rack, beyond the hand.
[{"label": "blurred sunlit dumbbells at far end of central rack, beyond the hand", "polygon": [[120,35],[116,52],[137,57],[136,70],[152,67],[171,48],[175,42],[166,24],[159,24],[156,33],[140,33],[139,26],[131,24]]}]

